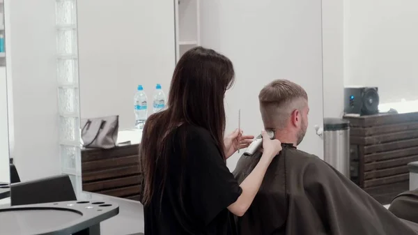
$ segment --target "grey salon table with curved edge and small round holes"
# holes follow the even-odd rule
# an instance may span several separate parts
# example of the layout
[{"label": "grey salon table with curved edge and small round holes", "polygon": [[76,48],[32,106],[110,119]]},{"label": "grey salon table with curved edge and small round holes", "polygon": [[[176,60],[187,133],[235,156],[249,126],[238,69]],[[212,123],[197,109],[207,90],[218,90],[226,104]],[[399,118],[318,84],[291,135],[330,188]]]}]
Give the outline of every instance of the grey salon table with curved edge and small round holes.
[{"label": "grey salon table with curved edge and small round holes", "polygon": [[109,202],[55,202],[0,209],[0,234],[99,235],[100,222],[118,214]]}]

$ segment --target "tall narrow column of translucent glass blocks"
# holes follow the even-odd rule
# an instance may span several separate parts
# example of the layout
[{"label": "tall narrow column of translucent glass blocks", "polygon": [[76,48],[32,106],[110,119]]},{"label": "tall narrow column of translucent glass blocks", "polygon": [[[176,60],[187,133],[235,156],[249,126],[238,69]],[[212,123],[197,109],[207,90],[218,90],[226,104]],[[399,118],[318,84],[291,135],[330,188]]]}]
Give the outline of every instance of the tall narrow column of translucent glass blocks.
[{"label": "tall narrow column of translucent glass blocks", "polygon": [[77,0],[56,1],[56,79],[59,100],[61,173],[82,195]]}]

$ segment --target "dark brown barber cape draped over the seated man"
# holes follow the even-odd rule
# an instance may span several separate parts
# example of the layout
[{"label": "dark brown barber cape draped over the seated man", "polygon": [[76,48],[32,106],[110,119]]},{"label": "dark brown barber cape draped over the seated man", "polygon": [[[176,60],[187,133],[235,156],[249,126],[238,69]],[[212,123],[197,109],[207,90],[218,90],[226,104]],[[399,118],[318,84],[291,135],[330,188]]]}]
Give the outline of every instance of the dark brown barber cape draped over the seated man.
[{"label": "dark brown barber cape draped over the seated man", "polygon": [[[320,158],[282,146],[253,204],[236,219],[239,234],[418,234],[417,224],[397,218]],[[239,183],[260,157],[240,158],[233,172]]]}]

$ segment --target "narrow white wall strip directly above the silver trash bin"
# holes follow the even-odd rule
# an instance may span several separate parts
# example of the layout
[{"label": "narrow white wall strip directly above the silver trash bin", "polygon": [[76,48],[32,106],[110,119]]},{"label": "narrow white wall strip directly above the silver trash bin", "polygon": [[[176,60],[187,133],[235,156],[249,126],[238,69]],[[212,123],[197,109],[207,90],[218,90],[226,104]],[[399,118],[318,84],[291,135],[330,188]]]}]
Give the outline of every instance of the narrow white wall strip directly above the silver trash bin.
[{"label": "narrow white wall strip directly above the silver trash bin", "polygon": [[324,117],[343,116],[344,0],[322,0]]}]

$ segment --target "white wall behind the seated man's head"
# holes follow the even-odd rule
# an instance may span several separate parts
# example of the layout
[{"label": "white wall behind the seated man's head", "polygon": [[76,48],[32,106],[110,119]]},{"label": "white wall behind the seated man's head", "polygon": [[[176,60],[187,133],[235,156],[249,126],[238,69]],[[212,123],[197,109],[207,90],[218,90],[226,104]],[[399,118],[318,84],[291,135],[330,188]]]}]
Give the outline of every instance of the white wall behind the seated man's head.
[{"label": "white wall behind the seated man's head", "polygon": [[[201,1],[201,44],[229,56],[236,83],[226,93],[227,131],[263,128],[258,93],[273,79],[291,79],[309,95],[310,126],[300,149],[323,157],[314,125],[323,123],[320,0]],[[238,154],[228,161],[235,168]]]}]

